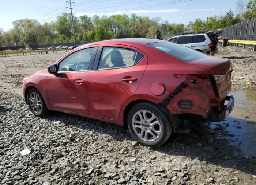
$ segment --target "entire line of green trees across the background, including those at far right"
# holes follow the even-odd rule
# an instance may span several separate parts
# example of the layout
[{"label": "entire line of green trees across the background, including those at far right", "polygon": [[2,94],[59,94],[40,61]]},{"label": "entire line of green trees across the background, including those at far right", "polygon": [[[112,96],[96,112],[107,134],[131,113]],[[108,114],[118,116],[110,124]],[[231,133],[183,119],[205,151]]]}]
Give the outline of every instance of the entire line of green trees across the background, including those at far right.
[{"label": "entire line of green trees across the background, including those at far right", "polygon": [[[256,18],[256,0],[238,0],[238,14],[226,12],[224,16],[208,17],[208,20],[196,19],[189,21],[187,26],[182,23],[174,24],[161,20],[160,17],[150,19],[145,16],[132,14],[128,16],[112,15],[99,17],[86,15],[74,17],[76,41],[101,40],[112,38],[170,38],[184,29],[193,28],[194,32],[223,29],[231,25]],[[12,22],[13,28],[9,31],[0,29],[2,46],[38,45],[74,42],[72,21],[69,13],[63,13],[56,21],[40,24],[35,19],[20,19]]]}]

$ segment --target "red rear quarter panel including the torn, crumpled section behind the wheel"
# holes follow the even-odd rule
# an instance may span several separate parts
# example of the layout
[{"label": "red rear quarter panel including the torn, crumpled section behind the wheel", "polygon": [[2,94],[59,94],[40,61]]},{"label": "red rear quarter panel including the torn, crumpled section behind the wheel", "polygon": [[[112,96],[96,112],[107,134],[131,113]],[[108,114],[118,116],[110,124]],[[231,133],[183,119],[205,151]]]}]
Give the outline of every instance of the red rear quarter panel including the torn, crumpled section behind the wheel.
[{"label": "red rear quarter panel including the torn, crumpled section behind the wheel", "polygon": [[[146,51],[148,55],[148,66],[137,91],[127,102],[125,102],[124,106],[127,106],[129,102],[135,101],[136,99],[144,99],[154,103],[164,101],[182,82],[185,81],[182,78],[177,78],[178,74],[209,75],[207,70],[193,67],[189,63],[166,54],[165,52],[151,48],[147,48]],[[151,92],[151,86],[156,82],[160,82],[165,86],[165,92],[162,95],[156,96]],[[167,105],[167,109],[172,114],[192,113],[205,117],[205,110],[212,106],[210,97],[215,97],[214,91],[212,91],[212,86],[209,86],[208,82],[209,79],[202,81],[197,87],[185,87],[182,89],[182,92],[170,101]],[[193,107],[187,110],[180,109],[178,107],[178,101],[180,99],[192,100]],[[197,105],[199,105],[201,109],[196,108]]]}]

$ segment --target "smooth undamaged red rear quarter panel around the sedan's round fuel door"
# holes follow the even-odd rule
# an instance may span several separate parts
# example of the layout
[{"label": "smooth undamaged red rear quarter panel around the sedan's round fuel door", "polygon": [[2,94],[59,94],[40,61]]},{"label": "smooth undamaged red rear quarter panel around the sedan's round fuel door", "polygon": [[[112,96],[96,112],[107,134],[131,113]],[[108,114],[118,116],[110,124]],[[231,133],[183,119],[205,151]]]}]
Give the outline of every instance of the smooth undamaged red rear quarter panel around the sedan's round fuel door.
[{"label": "smooth undamaged red rear quarter panel around the sedan's round fuel door", "polygon": [[[181,78],[174,77],[174,74],[208,74],[206,70],[190,66],[188,63],[165,52],[148,46],[145,46],[143,50],[148,55],[148,66],[135,94],[123,104],[119,118],[123,117],[125,107],[133,101],[146,100],[159,103],[165,100],[184,81]],[[156,82],[165,86],[165,92],[162,95],[156,96],[151,92],[151,86]],[[189,93],[186,95],[189,97]],[[197,96],[200,99],[200,95]],[[170,105],[177,105],[177,100],[174,100],[173,104]],[[174,112],[172,111],[172,113]]]}]

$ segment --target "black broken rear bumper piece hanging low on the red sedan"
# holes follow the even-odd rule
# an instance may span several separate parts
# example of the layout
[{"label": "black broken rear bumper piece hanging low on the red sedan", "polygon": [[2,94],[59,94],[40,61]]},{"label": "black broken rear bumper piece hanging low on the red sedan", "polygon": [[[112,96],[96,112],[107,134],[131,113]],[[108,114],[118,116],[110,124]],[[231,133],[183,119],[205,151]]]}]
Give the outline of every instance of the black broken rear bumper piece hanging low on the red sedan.
[{"label": "black broken rear bumper piece hanging low on the red sedan", "polygon": [[219,114],[209,114],[209,122],[220,122],[223,121],[233,110],[234,108],[234,97],[227,96],[226,101],[229,101],[224,107],[224,110]]}]

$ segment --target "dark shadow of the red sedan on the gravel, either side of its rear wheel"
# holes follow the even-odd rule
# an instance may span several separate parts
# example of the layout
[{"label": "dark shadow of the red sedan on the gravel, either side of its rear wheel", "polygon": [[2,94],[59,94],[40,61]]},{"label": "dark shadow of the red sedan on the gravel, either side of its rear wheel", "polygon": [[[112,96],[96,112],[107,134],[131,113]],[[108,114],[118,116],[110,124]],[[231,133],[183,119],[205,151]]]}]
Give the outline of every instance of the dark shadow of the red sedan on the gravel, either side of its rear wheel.
[{"label": "dark shadow of the red sedan on the gravel, either side of its rear wheel", "polygon": [[[57,112],[53,112],[45,119],[53,121],[55,124],[64,123],[67,126],[106,134],[116,141],[125,139],[134,141],[128,130],[112,123]],[[242,122],[242,120],[236,120]],[[165,144],[151,149],[167,156],[187,156],[191,160],[200,160],[204,163],[241,170],[255,175],[256,160],[252,157],[244,157],[239,148],[230,145],[228,139],[221,138],[222,136],[232,136],[232,134],[225,131],[225,127],[224,124],[211,129],[211,124],[197,123],[192,125],[191,133],[172,134]]]}]

